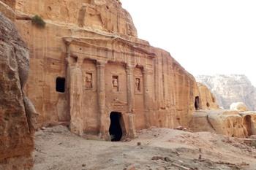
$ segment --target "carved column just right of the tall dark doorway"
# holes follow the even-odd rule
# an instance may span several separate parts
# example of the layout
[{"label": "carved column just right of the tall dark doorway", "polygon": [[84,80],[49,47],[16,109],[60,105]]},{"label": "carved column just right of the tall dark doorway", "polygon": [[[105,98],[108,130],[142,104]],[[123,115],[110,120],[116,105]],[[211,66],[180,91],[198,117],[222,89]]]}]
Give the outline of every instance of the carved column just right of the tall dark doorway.
[{"label": "carved column just right of the tall dark doorway", "polygon": [[127,103],[128,103],[128,118],[130,138],[137,136],[135,129],[135,87],[134,87],[134,67],[127,65]]}]

